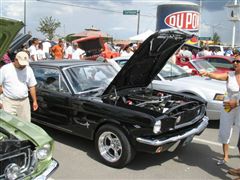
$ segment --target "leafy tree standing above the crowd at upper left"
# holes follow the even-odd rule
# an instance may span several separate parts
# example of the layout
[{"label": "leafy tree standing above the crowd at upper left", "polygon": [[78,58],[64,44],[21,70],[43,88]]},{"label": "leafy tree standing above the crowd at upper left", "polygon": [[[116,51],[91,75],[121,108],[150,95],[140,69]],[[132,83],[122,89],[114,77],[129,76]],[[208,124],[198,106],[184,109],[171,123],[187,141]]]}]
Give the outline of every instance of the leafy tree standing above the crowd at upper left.
[{"label": "leafy tree standing above the crowd at upper left", "polygon": [[50,16],[40,19],[37,31],[43,33],[48,39],[52,40],[56,29],[59,27],[61,27],[61,23]]}]

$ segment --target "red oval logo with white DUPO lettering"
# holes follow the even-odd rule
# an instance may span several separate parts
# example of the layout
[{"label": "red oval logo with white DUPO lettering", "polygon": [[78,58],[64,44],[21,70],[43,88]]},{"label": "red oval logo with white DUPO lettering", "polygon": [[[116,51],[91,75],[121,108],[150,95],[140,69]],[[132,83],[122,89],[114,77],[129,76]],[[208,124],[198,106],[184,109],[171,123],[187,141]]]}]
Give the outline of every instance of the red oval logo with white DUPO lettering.
[{"label": "red oval logo with white DUPO lettering", "polygon": [[197,31],[199,29],[199,13],[196,11],[179,11],[169,14],[165,20],[169,27]]}]

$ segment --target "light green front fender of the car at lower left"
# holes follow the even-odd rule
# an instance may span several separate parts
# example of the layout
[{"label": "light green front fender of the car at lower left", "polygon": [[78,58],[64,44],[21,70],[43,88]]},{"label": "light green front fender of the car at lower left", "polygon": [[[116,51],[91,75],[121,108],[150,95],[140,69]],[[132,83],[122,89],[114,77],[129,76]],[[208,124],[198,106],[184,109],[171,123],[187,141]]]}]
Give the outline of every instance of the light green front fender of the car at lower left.
[{"label": "light green front fender of the car at lower left", "polygon": [[36,146],[42,146],[52,141],[52,138],[42,128],[33,123],[19,120],[17,117],[8,114],[1,109],[0,127],[17,137],[19,140],[30,140]]}]

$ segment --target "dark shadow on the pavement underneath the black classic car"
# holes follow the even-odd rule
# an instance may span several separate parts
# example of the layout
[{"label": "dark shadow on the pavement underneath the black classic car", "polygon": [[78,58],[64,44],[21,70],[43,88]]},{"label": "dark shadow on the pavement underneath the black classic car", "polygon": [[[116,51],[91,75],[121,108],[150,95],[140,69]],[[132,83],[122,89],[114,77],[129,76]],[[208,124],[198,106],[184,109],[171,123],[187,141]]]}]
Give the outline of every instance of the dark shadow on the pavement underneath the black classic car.
[{"label": "dark shadow on the pavement underneath the black classic car", "polygon": [[[55,141],[84,151],[90,158],[99,162],[93,141],[48,127],[44,127],[44,129]],[[165,162],[173,159],[177,163],[186,164],[191,167],[199,167],[216,178],[231,179],[226,176],[226,172],[229,169],[227,165],[216,165],[217,160],[219,160],[217,157],[221,156],[220,153],[212,151],[208,145],[192,142],[188,146],[174,152],[163,152],[160,154],[139,152],[126,168],[135,171],[144,170],[150,166],[159,166],[159,168],[161,168]]]}]

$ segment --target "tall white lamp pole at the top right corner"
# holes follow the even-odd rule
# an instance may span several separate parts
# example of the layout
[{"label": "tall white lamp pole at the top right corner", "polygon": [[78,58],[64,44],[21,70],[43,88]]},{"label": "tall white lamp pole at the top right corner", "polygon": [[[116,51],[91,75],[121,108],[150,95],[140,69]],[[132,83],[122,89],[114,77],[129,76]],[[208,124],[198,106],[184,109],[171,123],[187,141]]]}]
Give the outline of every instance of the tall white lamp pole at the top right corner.
[{"label": "tall white lamp pole at the top right corner", "polygon": [[234,48],[236,23],[240,21],[240,4],[238,0],[234,0],[234,2],[229,1],[226,7],[229,8],[230,21],[233,22],[232,48]]}]

